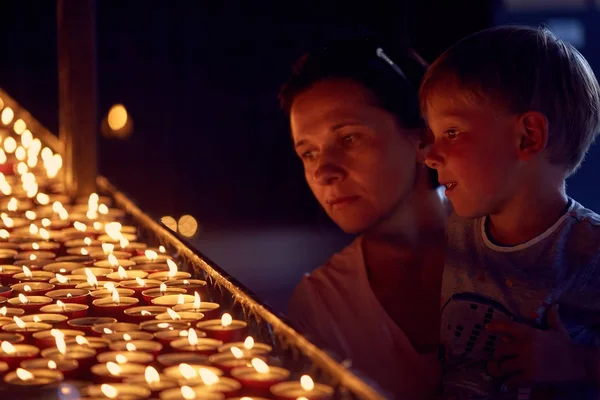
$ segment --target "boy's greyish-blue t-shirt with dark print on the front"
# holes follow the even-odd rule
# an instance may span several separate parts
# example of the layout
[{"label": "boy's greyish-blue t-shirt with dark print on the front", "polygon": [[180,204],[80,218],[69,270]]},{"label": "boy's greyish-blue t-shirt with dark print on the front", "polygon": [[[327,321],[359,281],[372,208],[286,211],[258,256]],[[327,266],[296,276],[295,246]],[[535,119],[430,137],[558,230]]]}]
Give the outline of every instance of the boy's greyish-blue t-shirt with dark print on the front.
[{"label": "boy's greyish-blue t-shirt with dark print on the front", "polygon": [[550,392],[535,387],[507,391],[486,372],[500,339],[484,326],[514,320],[545,329],[546,312],[558,304],[571,339],[600,346],[600,215],[570,199],[565,214],[546,232],[512,247],[491,242],[485,217],[453,215],[447,235],[444,397],[533,400],[544,390],[543,398],[598,398],[592,385],[583,384]]}]

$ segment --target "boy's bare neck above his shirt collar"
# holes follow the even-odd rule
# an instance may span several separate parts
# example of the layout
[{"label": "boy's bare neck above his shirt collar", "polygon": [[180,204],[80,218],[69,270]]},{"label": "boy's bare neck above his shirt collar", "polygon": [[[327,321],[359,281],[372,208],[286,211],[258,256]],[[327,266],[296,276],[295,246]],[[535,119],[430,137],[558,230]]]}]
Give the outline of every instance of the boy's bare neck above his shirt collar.
[{"label": "boy's bare neck above his shirt collar", "polygon": [[487,233],[494,243],[516,246],[541,235],[565,213],[568,198],[565,184],[544,189],[530,186],[513,197],[487,220]]}]

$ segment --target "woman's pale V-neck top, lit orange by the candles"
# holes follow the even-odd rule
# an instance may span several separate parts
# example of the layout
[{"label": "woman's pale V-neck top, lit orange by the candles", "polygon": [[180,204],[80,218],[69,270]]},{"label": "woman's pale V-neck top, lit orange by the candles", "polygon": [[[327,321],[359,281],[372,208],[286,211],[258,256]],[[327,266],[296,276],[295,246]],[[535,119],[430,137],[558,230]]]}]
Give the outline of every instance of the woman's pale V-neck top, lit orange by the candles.
[{"label": "woman's pale V-neck top, lit orange by the candles", "polygon": [[428,398],[438,387],[438,354],[418,354],[371,290],[362,236],[302,278],[289,317],[309,340],[351,360],[393,398]]}]

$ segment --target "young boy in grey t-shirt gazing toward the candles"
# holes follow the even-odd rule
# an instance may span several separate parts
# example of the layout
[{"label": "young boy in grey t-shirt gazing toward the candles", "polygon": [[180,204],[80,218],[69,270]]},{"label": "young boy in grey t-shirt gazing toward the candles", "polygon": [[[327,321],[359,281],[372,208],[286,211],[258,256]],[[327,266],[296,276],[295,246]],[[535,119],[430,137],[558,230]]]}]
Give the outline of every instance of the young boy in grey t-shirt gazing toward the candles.
[{"label": "young boy in grey t-shirt gazing toward the candles", "polygon": [[565,192],[600,127],[600,88],[544,28],[446,51],[421,108],[455,215],[442,289],[445,397],[598,395],[600,216]]}]

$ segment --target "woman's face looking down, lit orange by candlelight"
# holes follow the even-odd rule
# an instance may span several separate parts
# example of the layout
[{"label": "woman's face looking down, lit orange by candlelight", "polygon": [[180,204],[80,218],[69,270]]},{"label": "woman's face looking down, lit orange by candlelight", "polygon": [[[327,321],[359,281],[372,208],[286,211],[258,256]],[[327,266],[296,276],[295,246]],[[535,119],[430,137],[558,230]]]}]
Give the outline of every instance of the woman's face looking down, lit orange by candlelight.
[{"label": "woman's face looking down, lit orange by candlelight", "polygon": [[373,227],[412,191],[419,132],[401,128],[363,85],[318,82],[296,97],[290,119],[306,181],[344,231]]}]

